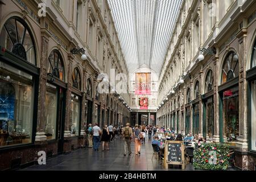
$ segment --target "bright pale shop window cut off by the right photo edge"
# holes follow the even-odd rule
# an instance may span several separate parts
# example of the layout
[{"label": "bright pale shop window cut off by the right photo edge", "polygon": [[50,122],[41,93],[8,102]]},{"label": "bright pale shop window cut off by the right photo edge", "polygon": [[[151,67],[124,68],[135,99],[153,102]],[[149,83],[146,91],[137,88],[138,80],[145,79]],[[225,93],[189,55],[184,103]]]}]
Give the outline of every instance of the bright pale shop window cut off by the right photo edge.
[{"label": "bright pale shop window cut off by the right photo edge", "polygon": [[256,80],[251,82],[251,150],[256,151]]}]

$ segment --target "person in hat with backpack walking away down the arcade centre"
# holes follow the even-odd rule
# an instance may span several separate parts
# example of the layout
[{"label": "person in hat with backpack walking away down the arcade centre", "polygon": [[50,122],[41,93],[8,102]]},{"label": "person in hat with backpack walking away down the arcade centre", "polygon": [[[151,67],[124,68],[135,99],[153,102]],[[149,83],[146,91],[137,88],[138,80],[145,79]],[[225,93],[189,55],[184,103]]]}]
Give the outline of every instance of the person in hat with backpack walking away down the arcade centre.
[{"label": "person in hat with backpack walking away down the arcade centre", "polygon": [[123,137],[123,155],[126,156],[127,148],[128,154],[131,155],[131,137],[133,137],[133,129],[130,127],[130,123],[126,123],[126,127],[122,129]]}]

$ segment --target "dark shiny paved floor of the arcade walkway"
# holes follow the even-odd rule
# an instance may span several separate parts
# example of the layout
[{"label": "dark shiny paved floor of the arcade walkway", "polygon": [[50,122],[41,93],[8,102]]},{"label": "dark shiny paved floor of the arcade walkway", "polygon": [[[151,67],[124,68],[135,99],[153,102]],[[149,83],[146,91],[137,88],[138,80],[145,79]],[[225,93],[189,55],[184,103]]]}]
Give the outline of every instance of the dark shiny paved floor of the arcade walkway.
[{"label": "dark shiny paved floor of the arcade walkway", "polygon": [[[60,155],[46,161],[46,165],[35,165],[22,170],[68,170],[68,171],[157,171],[166,170],[152,158],[151,141],[142,144],[141,155],[134,154],[134,143],[131,144],[132,154],[123,156],[123,142],[117,139],[110,143],[109,151],[93,151],[92,148],[83,148],[68,155]],[[179,167],[168,170],[181,170]],[[185,168],[192,171],[193,166],[188,164]]]}]

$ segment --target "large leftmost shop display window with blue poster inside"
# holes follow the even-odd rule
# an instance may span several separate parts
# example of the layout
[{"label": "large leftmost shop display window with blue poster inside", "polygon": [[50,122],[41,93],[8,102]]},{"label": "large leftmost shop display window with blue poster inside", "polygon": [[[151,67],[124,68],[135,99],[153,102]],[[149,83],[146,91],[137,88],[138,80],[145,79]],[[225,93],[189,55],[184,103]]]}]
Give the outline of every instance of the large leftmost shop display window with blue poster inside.
[{"label": "large leftmost shop display window with blue poster inside", "polygon": [[32,142],[33,77],[0,61],[0,147]]}]

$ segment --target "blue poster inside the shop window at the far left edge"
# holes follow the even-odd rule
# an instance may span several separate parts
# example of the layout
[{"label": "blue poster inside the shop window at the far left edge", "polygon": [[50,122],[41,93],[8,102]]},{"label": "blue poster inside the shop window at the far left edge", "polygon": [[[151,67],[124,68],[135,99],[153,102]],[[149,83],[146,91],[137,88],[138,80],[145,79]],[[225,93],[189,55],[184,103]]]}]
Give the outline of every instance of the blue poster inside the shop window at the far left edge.
[{"label": "blue poster inside the shop window at the far left edge", "polygon": [[15,89],[0,80],[0,129],[8,130],[8,121],[14,120]]}]

